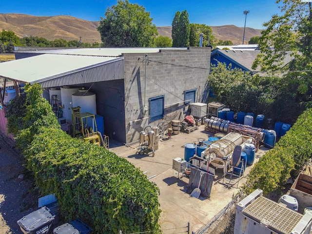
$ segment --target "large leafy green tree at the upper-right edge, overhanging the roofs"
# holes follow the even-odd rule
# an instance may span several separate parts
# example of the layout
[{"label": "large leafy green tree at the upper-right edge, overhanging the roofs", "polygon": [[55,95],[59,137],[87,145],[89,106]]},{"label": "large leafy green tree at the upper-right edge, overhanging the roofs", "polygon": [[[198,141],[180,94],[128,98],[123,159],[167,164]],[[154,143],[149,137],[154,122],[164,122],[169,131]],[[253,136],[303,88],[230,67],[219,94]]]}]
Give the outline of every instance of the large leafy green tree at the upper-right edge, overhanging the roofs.
[{"label": "large leafy green tree at the upper-right edge, overhanging the roofs", "polygon": [[[312,81],[311,2],[277,0],[276,3],[283,3],[280,6],[282,14],[273,15],[263,24],[266,29],[261,32],[258,43],[261,53],[255,59],[253,69],[259,66],[262,71],[303,71],[287,73],[285,82],[289,84],[289,92],[307,94]],[[287,63],[285,58],[289,56],[293,60]]]}]

